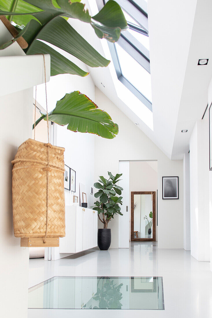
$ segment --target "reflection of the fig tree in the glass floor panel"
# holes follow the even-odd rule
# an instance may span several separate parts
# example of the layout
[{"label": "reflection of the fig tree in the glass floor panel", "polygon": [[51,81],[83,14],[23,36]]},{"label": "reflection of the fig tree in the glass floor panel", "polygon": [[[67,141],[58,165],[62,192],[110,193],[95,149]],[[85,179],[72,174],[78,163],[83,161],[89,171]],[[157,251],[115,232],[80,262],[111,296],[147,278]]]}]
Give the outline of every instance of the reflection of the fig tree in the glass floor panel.
[{"label": "reflection of the fig tree in the glass floor panel", "polygon": [[100,277],[97,282],[97,292],[93,296],[95,301],[99,301],[99,307],[94,306],[93,309],[121,309],[122,293],[120,292],[123,283],[114,284],[114,280],[109,277]]}]

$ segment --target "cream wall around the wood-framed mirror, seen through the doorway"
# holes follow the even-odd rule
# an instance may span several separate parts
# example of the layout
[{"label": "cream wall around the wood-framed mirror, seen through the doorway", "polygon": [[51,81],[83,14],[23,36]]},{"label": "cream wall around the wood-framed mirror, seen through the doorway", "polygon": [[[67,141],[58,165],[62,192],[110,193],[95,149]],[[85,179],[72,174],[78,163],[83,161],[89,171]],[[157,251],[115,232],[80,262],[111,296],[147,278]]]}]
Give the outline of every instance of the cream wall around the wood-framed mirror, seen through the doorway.
[{"label": "cream wall around the wood-framed mirror, seen through the doorway", "polygon": [[[158,162],[157,161],[130,161],[130,196],[132,191],[155,191],[156,201],[156,241],[158,240],[157,227],[157,188]],[[131,206],[131,202],[130,202]],[[131,215],[130,215],[131,222]]]}]

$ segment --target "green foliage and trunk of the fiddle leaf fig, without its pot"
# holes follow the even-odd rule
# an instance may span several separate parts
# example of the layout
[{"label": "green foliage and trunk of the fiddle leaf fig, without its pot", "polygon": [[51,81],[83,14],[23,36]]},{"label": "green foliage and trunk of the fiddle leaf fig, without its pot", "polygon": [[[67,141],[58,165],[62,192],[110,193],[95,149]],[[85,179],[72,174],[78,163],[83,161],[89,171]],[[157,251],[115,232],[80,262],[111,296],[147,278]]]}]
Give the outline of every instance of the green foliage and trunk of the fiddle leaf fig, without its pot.
[{"label": "green foliage and trunk of the fiddle leaf fig, without its pot", "polygon": [[[98,218],[104,224],[104,229],[108,228],[108,223],[111,218],[114,218],[115,214],[123,215],[120,212],[123,197],[119,197],[122,194],[123,188],[117,185],[117,182],[121,180],[119,178],[122,176],[122,173],[117,173],[116,176],[113,176],[111,172],[108,172],[108,175],[108,179],[99,176],[99,182],[94,183],[94,187],[98,189],[98,192],[96,192],[94,196],[98,198],[98,200],[92,207],[93,210],[98,212]],[[100,218],[101,213],[102,219]]]}]

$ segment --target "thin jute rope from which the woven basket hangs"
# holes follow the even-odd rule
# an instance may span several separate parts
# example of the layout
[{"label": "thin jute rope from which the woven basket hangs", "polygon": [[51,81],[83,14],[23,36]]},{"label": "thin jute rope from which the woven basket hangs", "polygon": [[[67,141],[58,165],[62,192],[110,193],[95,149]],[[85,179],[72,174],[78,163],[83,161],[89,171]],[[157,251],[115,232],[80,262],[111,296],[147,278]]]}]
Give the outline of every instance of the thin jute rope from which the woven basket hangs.
[{"label": "thin jute rope from which the woven basket hangs", "polygon": [[[45,74],[45,91],[46,91],[46,63],[45,63],[45,56],[43,55],[44,60],[44,74]],[[35,123],[36,123],[36,95],[37,95],[37,86],[35,86]],[[50,165],[49,165],[49,151],[50,147],[52,146],[49,142],[49,116],[48,116],[48,105],[47,105],[47,92],[46,92],[46,122],[47,122],[47,134],[48,134],[48,143],[47,146],[47,168],[46,170],[46,233],[45,238],[43,239],[43,243],[46,243],[46,237],[47,237],[47,229],[48,229],[48,197],[49,197],[49,171],[50,171]],[[34,140],[35,140],[35,124],[34,124]]]}]

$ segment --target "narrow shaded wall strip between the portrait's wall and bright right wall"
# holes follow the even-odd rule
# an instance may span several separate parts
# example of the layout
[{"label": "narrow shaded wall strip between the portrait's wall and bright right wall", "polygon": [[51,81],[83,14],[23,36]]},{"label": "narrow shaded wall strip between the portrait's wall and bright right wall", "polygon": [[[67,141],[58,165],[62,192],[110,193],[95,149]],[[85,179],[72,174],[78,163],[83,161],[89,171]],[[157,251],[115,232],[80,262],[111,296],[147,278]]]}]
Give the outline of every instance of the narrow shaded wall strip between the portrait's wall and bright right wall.
[{"label": "narrow shaded wall strip between the portrait's wall and bright right wall", "polygon": [[186,251],[191,249],[189,154],[183,157],[183,248]]}]

